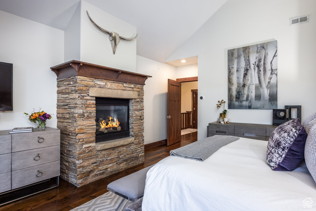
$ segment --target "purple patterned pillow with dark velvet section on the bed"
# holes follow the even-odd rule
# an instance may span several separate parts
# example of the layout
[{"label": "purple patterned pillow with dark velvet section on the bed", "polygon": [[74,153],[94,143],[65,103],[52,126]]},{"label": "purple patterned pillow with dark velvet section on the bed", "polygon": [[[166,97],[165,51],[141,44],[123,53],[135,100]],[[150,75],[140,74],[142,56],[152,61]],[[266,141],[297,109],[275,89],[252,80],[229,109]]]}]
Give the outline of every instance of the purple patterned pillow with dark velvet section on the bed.
[{"label": "purple patterned pillow with dark velvet section on the bed", "polygon": [[271,134],[267,163],[273,171],[293,171],[304,159],[307,133],[300,119],[279,125]]}]

